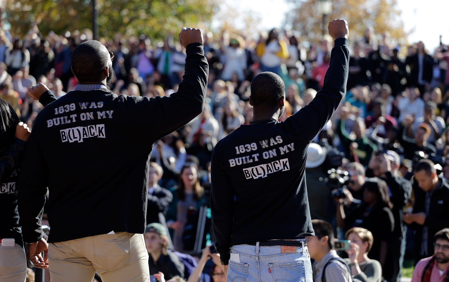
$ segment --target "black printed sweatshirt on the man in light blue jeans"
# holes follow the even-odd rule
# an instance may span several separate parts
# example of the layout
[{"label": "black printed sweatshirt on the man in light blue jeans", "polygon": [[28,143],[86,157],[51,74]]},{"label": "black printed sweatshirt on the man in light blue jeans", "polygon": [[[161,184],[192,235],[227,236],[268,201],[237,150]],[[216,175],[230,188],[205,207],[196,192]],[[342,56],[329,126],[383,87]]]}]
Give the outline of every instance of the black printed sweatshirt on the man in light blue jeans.
[{"label": "black printed sweatshirt on the man in light blue jeans", "polygon": [[229,260],[232,245],[314,234],[304,174],[307,148],[345,94],[348,62],[348,40],[338,38],[324,86],[307,107],[284,122],[242,125],[217,143],[211,210],[222,261]]}]

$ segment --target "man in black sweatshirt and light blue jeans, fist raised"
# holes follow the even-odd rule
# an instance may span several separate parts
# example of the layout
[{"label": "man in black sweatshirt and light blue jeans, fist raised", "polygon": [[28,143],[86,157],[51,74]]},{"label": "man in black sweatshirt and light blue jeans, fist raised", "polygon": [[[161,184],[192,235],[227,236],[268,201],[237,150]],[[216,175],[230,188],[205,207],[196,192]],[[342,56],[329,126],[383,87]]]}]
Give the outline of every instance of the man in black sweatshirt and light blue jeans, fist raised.
[{"label": "man in black sweatshirt and light blue jeans, fist raised", "polygon": [[338,107],[348,79],[348,23],[334,20],[328,29],[334,48],[313,101],[278,122],[285,108],[284,82],[274,73],[260,73],[251,82],[253,120],[213,152],[212,225],[230,281],[312,281],[305,242],[315,235],[304,173],[307,148]]}]

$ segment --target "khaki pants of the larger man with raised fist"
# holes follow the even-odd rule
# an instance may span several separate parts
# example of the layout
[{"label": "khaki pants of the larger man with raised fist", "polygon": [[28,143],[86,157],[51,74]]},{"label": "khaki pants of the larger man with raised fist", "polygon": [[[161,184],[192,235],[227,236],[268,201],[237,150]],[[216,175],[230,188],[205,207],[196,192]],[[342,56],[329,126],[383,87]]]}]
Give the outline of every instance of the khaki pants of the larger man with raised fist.
[{"label": "khaki pants of the larger man with raised fist", "polygon": [[142,234],[119,232],[48,245],[52,282],[91,282],[95,271],[104,282],[150,281]]}]

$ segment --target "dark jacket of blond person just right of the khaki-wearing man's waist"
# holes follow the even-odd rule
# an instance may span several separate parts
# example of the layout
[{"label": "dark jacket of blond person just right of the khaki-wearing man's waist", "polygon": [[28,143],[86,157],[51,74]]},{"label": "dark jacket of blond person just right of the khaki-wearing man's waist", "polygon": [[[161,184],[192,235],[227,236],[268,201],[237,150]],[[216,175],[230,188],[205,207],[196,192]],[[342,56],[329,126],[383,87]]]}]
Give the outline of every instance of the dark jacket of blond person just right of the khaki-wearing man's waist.
[{"label": "dark jacket of blond person just right of the khaki-wearing man's waist", "polygon": [[[172,192],[159,185],[154,188],[152,195],[148,195],[146,208],[146,223],[158,222],[166,225],[165,214],[167,214],[168,205],[173,201]],[[161,217],[160,214],[163,214]],[[161,222],[163,219],[163,222]]]}]

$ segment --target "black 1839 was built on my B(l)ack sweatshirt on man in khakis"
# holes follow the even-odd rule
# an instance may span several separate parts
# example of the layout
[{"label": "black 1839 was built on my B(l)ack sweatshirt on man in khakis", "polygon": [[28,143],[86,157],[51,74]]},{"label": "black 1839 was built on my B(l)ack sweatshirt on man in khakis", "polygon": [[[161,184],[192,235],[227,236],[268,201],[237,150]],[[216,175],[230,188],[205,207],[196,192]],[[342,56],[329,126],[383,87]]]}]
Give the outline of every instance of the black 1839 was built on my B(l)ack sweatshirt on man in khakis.
[{"label": "black 1839 was built on my B(l)ack sweatshirt on man in khakis", "polygon": [[50,243],[144,233],[153,144],[202,112],[209,71],[202,47],[187,46],[185,75],[170,97],[70,91],[40,112],[20,177],[25,242],[42,237],[47,187]]}]

